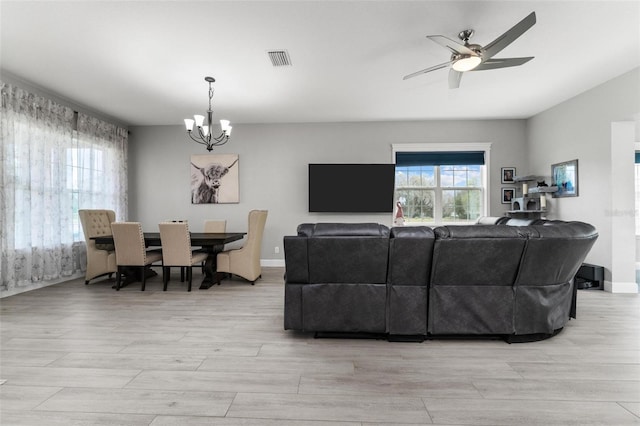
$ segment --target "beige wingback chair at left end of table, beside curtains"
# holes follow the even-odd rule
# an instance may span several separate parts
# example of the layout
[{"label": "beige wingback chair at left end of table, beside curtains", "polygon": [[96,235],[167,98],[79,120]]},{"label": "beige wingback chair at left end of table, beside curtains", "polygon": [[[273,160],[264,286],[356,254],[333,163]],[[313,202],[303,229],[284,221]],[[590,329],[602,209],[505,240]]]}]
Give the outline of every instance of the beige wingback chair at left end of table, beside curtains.
[{"label": "beige wingback chair at left end of table, beside curtains", "polygon": [[113,244],[96,244],[93,237],[111,235],[111,222],[115,222],[113,210],[82,209],[78,211],[84,239],[87,244],[87,271],[84,283],[102,275],[109,278],[116,272],[116,252]]}]

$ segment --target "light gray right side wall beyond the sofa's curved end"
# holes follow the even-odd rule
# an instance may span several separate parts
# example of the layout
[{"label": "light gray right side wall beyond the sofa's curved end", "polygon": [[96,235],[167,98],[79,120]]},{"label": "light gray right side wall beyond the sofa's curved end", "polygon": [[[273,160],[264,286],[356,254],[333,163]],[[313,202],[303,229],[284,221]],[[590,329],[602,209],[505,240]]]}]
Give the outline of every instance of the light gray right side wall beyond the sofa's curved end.
[{"label": "light gray right side wall beyond the sofa's curved end", "polygon": [[[551,164],[578,159],[579,196],[553,199],[552,216],[589,222],[598,229],[600,237],[587,262],[605,267],[613,291],[616,285],[620,291],[636,288],[633,151],[639,113],[636,68],[527,122],[531,174],[549,176]],[[622,126],[630,132],[620,132],[620,122],[626,122]],[[618,256],[629,256],[623,265],[614,258],[617,249]]]}]

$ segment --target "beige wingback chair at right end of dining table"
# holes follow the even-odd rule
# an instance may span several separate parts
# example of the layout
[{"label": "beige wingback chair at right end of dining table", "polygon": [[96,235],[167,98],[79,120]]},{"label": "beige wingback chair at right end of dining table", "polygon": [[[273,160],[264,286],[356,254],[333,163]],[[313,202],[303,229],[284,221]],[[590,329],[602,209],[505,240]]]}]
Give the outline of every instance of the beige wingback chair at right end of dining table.
[{"label": "beige wingback chair at right end of dining table", "polygon": [[251,285],[262,276],[260,249],[267,213],[267,210],[249,212],[249,229],[245,244],[242,248],[218,253],[217,272],[238,275],[250,281]]}]

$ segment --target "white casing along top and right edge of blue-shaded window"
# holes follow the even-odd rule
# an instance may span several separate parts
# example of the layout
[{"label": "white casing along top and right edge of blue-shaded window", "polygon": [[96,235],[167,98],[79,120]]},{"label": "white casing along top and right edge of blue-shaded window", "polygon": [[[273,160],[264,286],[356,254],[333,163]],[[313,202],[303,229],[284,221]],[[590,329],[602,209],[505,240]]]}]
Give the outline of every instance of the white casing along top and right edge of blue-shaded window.
[{"label": "white casing along top and right edge of blue-shaded window", "polygon": [[[484,166],[482,185],[484,187],[484,203],[481,216],[489,216],[491,203],[491,142],[461,142],[461,143],[394,143],[391,144],[391,162],[396,163],[396,152],[437,152],[437,151],[484,151]],[[393,221],[393,217],[391,218]]]}]

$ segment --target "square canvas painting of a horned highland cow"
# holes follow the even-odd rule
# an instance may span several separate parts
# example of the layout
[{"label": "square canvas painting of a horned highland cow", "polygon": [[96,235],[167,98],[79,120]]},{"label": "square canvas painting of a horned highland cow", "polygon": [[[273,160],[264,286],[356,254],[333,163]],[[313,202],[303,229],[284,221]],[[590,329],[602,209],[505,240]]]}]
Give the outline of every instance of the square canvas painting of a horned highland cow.
[{"label": "square canvas painting of a horned highland cow", "polygon": [[238,154],[191,156],[191,204],[240,202]]}]

